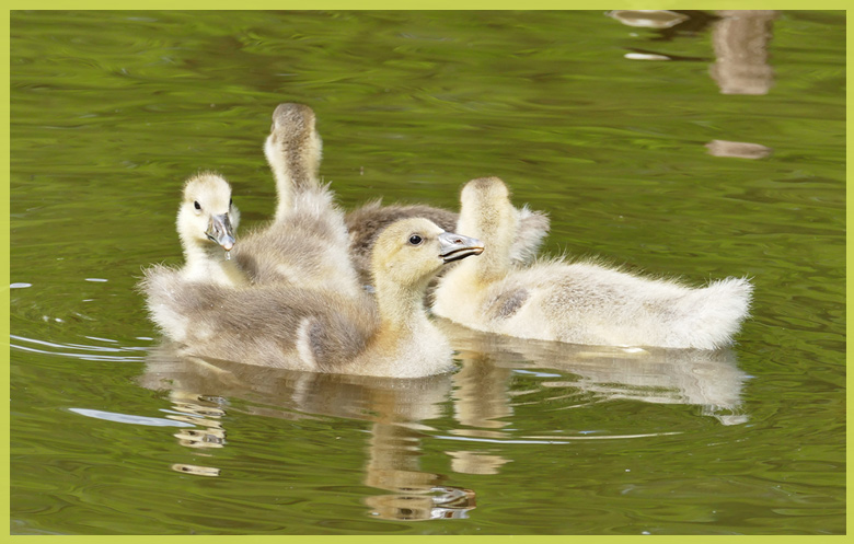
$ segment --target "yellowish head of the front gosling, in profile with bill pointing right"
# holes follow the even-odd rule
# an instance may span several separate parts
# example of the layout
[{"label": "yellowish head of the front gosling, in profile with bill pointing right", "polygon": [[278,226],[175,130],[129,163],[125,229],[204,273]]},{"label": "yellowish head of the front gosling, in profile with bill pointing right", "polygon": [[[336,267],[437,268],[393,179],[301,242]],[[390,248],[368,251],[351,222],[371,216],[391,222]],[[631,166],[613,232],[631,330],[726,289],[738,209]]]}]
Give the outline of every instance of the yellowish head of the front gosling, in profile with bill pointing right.
[{"label": "yellowish head of the front gosling, in profile with bill pointing right", "polygon": [[483,253],[483,242],[446,232],[429,219],[412,218],[385,228],[373,246],[374,281],[426,285],[442,265]]}]

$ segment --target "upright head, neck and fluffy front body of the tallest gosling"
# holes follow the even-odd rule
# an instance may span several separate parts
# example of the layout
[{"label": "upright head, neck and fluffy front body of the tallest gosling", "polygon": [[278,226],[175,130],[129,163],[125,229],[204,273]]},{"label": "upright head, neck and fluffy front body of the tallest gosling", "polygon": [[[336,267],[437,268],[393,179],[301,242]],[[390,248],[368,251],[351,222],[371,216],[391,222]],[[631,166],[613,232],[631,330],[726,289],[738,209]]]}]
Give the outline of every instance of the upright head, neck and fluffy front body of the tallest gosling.
[{"label": "upright head, neck and fluffy front body of the tallest gosling", "polygon": [[241,236],[234,248],[240,267],[255,286],[360,291],[346,252],[349,238],[343,215],[334,194],[318,177],[322,141],[314,112],[302,104],[279,104],[264,154],[276,180],[276,215],[269,224]]}]

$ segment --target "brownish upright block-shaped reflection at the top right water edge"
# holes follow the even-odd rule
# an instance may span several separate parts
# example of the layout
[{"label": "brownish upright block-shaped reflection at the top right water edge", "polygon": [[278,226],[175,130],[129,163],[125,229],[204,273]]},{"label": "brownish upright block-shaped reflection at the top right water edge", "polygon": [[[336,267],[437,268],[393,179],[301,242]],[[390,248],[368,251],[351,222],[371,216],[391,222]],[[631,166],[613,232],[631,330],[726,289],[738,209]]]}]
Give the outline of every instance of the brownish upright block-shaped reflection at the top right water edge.
[{"label": "brownish upright block-shaped reflection at the top right water edge", "polygon": [[712,31],[715,63],[709,69],[723,94],[768,94],[774,70],[768,62],[771,10],[723,10]]}]

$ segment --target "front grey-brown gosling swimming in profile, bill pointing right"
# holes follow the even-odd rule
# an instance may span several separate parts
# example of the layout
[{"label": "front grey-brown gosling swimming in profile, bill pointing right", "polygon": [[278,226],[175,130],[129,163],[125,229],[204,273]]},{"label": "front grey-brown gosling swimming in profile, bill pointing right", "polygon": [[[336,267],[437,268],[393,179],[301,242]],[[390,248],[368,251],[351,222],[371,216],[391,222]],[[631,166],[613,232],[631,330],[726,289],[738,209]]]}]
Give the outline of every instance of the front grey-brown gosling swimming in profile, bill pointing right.
[{"label": "front grey-brown gosling swimming in profile, bill pointing right", "polygon": [[[346,252],[346,246],[345,250]],[[386,228],[373,248],[376,294],[288,283],[230,289],[147,280],[154,321],[182,354],[264,367],[393,378],[452,368],[451,347],[428,319],[424,291],[446,263],[483,252],[474,239],[427,219]],[[168,317],[164,315],[170,314]]]}]

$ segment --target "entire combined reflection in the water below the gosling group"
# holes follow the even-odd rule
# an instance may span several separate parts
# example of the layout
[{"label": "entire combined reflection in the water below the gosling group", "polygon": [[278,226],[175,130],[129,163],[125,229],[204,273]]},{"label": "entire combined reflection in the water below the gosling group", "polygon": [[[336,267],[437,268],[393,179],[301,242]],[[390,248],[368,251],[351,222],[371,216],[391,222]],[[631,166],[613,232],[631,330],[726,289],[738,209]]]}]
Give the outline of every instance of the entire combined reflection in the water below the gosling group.
[{"label": "entire combined reflection in the water below the gosling group", "polygon": [[[450,485],[447,476],[420,468],[422,442],[435,431],[425,421],[442,416],[449,397],[459,425],[448,432],[460,437],[459,442],[449,441],[477,442],[486,448],[446,450],[457,474],[498,474],[513,461],[510,444],[517,442],[642,439],[670,433],[568,437],[564,429],[546,428],[536,429],[535,436],[519,436],[511,429],[513,402],[532,392],[553,391],[555,394],[545,400],[549,402],[575,402],[581,393],[592,397],[587,404],[627,398],[695,405],[724,425],[748,420],[740,413],[741,387],[748,375],[735,364],[730,350],[576,346],[480,333],[446,320],[437,320],[437,324],[459,349],[462,368],[455,374],[378,379],[267,369],[180,358],[164,345],[151,351],[140,382],[149,389],[170,391],[172,409],[164,410],[166,417],[194,426],[174,436],[182,445],[199,451],[228,445],[222,420],[227,410],[236,410],[226,401],[229,397],[257,402],[259,405],[249,403],[240,409],[266,417],[332,416],[371,421],[363,482],[389,493],[368,497],[365,502],[371,516],[409,521],[465,518],[476,506],[473,490]],[[535,378],[533,391],[512,389],[513,377],[520,373]],[[214,466],[174,464],[172,468],[219,475]]]}]

